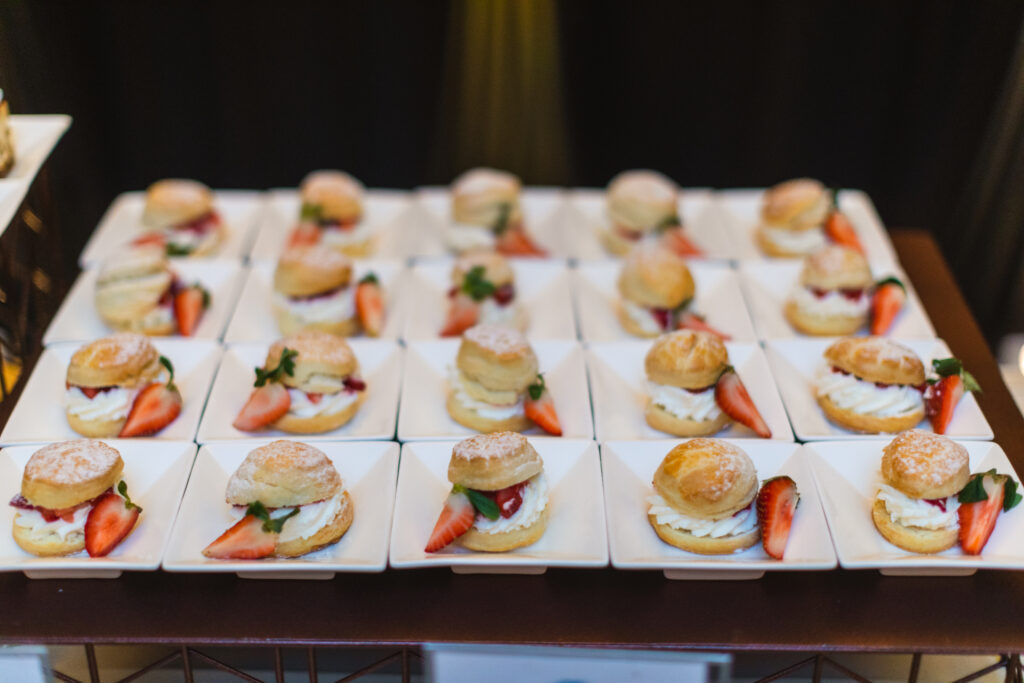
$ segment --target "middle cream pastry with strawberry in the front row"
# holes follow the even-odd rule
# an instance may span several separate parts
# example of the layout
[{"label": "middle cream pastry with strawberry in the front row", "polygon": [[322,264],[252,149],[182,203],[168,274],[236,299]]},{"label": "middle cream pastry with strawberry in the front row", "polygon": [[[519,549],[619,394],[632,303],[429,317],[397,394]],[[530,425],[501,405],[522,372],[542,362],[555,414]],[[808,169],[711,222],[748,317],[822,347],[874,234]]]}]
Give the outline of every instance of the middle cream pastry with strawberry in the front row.
[{"label": "middle cream pastry with strawberry in the front row", "polygon": [[452,449],[452,493],[427,541],[501,553],[537,543],[548,524],[548,482],[540,454],[522,434],[479,434]]}]

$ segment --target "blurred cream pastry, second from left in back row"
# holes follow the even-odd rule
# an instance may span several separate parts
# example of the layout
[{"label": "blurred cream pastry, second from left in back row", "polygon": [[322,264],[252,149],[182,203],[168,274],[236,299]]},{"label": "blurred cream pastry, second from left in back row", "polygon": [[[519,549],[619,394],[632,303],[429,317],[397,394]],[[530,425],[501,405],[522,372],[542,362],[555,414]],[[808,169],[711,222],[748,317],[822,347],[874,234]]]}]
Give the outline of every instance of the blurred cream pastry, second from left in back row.
[{"label": "blurred cream pastry, second from left in back row", "polygon": [[362,183],[342,171],[313,171],[299,186],[299,223],[289,245],[315,245],[349,256],[369,256],[373,233],[364,220]]}]

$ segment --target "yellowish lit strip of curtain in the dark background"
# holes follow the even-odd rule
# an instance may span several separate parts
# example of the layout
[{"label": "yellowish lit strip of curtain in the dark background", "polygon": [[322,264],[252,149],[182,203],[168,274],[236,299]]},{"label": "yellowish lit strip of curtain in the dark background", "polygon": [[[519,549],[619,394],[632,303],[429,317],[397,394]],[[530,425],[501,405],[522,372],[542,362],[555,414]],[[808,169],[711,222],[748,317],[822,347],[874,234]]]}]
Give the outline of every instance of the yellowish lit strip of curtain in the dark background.
[{"label": "yellowish lit strip of curtain in the dark background", "polygon": [[550,0],[455,0],[433,175],[472,166],[568,181],[558,12]]}]

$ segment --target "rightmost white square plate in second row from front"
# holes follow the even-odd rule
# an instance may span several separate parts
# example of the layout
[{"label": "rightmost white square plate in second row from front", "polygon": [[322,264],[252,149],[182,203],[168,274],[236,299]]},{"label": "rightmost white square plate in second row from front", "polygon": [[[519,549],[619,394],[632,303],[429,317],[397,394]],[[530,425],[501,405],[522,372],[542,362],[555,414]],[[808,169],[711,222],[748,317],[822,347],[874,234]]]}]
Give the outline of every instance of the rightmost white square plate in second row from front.
[{"label": "rightmost white square plate in second row from front", "polygon": [[[878,434],[859,434],[837,427],[825,418],[814,398],[814,376],[824,365],[824,351],[835,339],[778,339],[765,342],[765,353],[771,366],[775,382],[782,394],[782,401],[793,422],[793,430],[801,441],[821,441],[834,439],[877,439]],[[931,374],[932,358],[948,358],[952,355],[945,342],[939,339],[901,339],[903,344],[925,364],[925,375]],[[968,371],[971,369],[968,368]],[[982,387],[984,388],[984,387]],[[918,425],[921,429],[932,430],[928,420]],[[978,401],[968,392],[964,394],[953,419],[946,429],[950,438],[990,439],[992,428],[981,413]]]}]

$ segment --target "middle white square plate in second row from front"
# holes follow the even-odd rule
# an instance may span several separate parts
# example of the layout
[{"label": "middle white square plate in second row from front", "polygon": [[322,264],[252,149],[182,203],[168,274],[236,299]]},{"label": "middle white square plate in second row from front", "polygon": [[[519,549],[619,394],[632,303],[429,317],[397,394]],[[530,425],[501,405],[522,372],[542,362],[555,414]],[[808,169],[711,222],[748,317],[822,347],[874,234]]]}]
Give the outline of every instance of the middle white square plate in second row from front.
[{"label": "middle white square plate in second row from front", "polygon": [[[449,369],[455,367],[460,343],[459,339],[409,343],[401,383],[398,440],[464,438],[477,433],[453,420],[444,407]],[[531,345],[554,398],[562,436],[594,438],[587,371],[579,342],[545,339],[531,342]],[[538,427],[525,433],[544,434]]]}]

